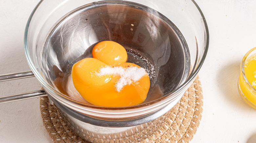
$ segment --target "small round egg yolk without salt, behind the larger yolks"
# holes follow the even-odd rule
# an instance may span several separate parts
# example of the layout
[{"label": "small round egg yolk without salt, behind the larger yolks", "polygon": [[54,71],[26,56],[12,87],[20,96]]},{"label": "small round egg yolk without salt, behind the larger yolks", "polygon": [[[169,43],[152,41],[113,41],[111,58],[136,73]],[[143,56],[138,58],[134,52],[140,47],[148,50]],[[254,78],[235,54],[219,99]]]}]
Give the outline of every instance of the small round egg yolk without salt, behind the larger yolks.
[{"label": "small round egg yolk without salt, behind the larger yolks", "polygon": [[126,62],[127,53],[124,47],[114,41],[97,43],[92,51],[94,58],[111,66]]}]

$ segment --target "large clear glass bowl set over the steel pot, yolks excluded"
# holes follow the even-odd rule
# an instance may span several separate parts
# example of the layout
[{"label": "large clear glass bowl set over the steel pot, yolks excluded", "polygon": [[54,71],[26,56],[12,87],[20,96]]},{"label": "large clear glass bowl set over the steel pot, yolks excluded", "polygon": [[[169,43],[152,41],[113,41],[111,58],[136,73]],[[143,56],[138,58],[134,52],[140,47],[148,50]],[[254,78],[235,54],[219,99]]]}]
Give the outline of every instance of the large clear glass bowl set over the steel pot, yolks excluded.
[{"label": "large clear glass bowl set over the steel pot, yolks excluded", "polygon": [[[102,9],[99,7],[101,5]],[[116,13],[119,12],[119,15],[118,13],[117,15],[111,15],[111,10],[109,10],[108,7],[113,8],[116,6],[121,8],[116,11]],[[102,38],[101,36],[101,38],[99,38],[97,34],[106,31],[108,32],[108,30],[106,30],[106,27],[110,26],[110,23],[118,25],[118,22],[120,22],[124,18],[124,16],[129,15],[129,12],[131,11],[129,11],[129,9],[124,9],[122,11],[123,6],[138,10],[138,15],[143,15],[141,16],[142,19],[140,19],[139,21],[143,21],[143,18],[149,20],[147,21],[148,23],[145,23],[146,25],[148,25],[144,27],[139,27],[141,25],[136,25],[134,22],[131,24],[129,23],[128,19],[123,22],[129,23],[130,26],[132,25],[135,27],[139,27],[136,30],[138,31],[137,33],[139,33],[139,30],[144,29],[144,32],[146,30],[148,32],[146,33],[152,36],[151,38],[149,38],[150,40],[148,40],[149,42],[153,41],[151,44],[149,44],[148,42],[138,43],[139,40],[137,37],[137,47],[134,44],[136,42],[134,42],[133,45],[130,45],[130,47],[132,47],[135,51],[137,50],[137,52],[135,53],[142,53],[142,55],[144,54],[144,57],[148,56],[147,59],[151,59],[155,67],[155,71],[158,72],[156,74],[157,76],[159,76],[156,77],[154,80],[161,86],[161,90],[164,94],[157,99],[150,100],[146,103],[128,107],[95,106],[76,101],[69,96],[62,94],[54,86],[53,80],[56,76],[54,75],[54,70],[51,67],[55,65],[58,67],[59,70],[68,71],[70,66],[72,66],[72,63],[79,60],[80,57],[85,56],[84,53],[88,51],[87,49],[89,49],[90,46],[100,40],[111,40],[111,36],[106,36],[105,38]],[[95,24],[96,22],[102,22],[102,20],[98,18],[106,18],[100,16],[101,14],[104,14],[104,12],[106,12],[103,11],[103,13],[101,13],[101,10],[104,10],[104,8],[106,11],[108,11],[108,13],[105,14],[111,15],[110,19],[108,20],[108,26],[105,26],[105,30],[98,29],[102,27],[104,28],[103,25],[95,28],[98,26],[97,24]],[[95,9],[98,9],[98,11],[95,11]],[[90,11],[94,13],[94,15],[90,15]],[[98,13],[98,15],[96,13]],[[86,18],[83,19],[84,23],[81,23],[81,19],[79,20],[79,16],[77,17],[77,14],[81,14],[80,16],[82,17],[88,15],[93,20],[90,21],[89,18]],[[137,15],[136,13],[133,13],[130,14],[130,16],[131,18],[133,18],[133,16]],[[112,22],[111,20],[118,22]],[[79,21],[80,23],[75,23],[77,21]],[[89,21],[90,24],[85,24]],[[72,25],[72,23],[75,24]],[[76,47],[76,49],[69,48],[68,46],[63,46],[65,44],[69,44],[69,41],[63,40],[63,38],[67,38],[65,37],[65,31],[67,31],[72,26],[79,27],[79,25],[84,26],[87,31],[89,30],[89,32],[87,32],[83,36],[80,36],[80,39],[75,39],[76,33],[74,34],[72,32],[68,32],[67,35],[74,35],[74,37],[69,37],[69,40],[72,42],[76,41],[71,44],[73,47]],[[158,27],[159,25],[160,27]],[[118,26],[116,26],[116,29],[118,29]],[[150,32],[150,30],[148,29],[152,29],[152,31]],[[119,28],[119,32],[120,30],[121,29]],[[128,32],[131,32],[129,30],[131,30],[131,28],[128,28]],[[165,30],[167,31],[167,34],[165,33]],[[81,30],[77,31],[78,33],[79,31],[81,32]],[[58,33],[58,35],[54,36],[54,32]],[[118,34],[118,30],[115,31],[114,29],[114,32],[117,32]],[[112,34],[111,32],[109,33]],[[143,30],[141,33],[142,36],[140,36],[140,38],[148,38],[148,35],[143,36]],[[174,38],[170,37],[170,33],[174,35]],[[118,37],[118,35],[116,36]],[[125,35],[119,35],[119,38],[122,36]],[[136,37],[136,33],[132,34],[132,36],[130,37],[132,37],[130,38],[130,40],[132,41],[132,39]],[[57,42],[60,42],[60,44],[54,46],[54,38]],[[86,42],[84,42],[84,44],[82,43],[81,45],[81,41],[83,40],[86,40]],[[118,42],[118,38],[112,38],[112,40],[116,40]],[[122,42],[122,40],[120,41]],[[145,47],[143,46],[145,46],[146,44],[149,44],[148,46],[153,46],[145,49]],[[168,110],[170,110],[181,99],[185,90],[195,80],[198,71],[203,64],[208,50],[208,44],[209,33],[205,18],[202,11],[193,0],[130,0],[129,2],[94,2],[93,0],[41,0],[32,11],[32,14],[26,26],[24,38],[26,57],[34,75],[44,87],[49,98],[52,99],[52,101],[56,105],[71,109],[66,110],[66,113],[70,116],[74,115],[74,118],[78,118],[76,115],[79,114],[80,117],[90,117],[92,119],[99,119],[103,121],[131,120],[135,122],[136,119],[141,119],[143,117],[149,116],[152,113],[156,113],[165,107],[168,107],[165,108],[164,112],[161,111],[159,112],[160,114],[151,117],[150,119],[143,121],[140,120],[141,122],[137,122],[137,125],[160,117]],[[176,45],[176,47],[178,46],[178,48],[176,49],[181,50],[172,51],[172,45]],[[167,49],[166,51],[171,50],[169,51],[169,54],[166,54],[166,51],[164,52],[165,54],[162,54],[162,47],[163,49]],[[69,51],[68,54],[65,53],[67,51]],[[152,56],[154,54],[162,54],[162,57],[164,58],[157,58],[159,59],[159,62],[157,62],[158,60],[155,60],[154,56]],[[166,63],[168,62],[164,62],[165,60],[174,60],[176,63],[173,67],[170,67],[166,65]],[[161,63],[160,61],[163,61],[163,63]],[[180,61],[181,67],[179,67]],[[159,66],[160,64],[162,65],[162,67]],[[169,78],[165,78],[165,75],[160,75],[160,73],[172,73],[171,69],[175,71],[175,74],[173,73],[172,76],[167,75],[167,77]],[[176,69],[181,69],[181,72],[177,71]],[[173,87],[171,86],[172,82],[176,83]],[[79,120],[82,119],[79,118]],[[86,122],[86,120],[83,121]],[[136,124],[131,124],[129,126]]]}]

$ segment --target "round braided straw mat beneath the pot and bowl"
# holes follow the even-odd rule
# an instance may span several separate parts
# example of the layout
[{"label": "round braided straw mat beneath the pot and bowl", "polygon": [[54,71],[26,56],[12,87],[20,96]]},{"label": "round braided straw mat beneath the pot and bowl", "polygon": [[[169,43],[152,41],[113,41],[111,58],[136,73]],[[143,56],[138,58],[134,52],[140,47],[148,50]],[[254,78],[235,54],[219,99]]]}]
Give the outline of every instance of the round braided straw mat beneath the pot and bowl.
[{"label": "round braided straw mat beneath the pot and bowl", "polygon": [[[40,98],[40,110],[43,124],[54,143],[89,143],[70,130],[61,118],[58,108],[50,104],[47,96]],[[165,117],[160,128],[139,143],[188,143],[197,131],[202,111],[202,86],[197,77],[181,100],[163,115],[167,118]]]}]

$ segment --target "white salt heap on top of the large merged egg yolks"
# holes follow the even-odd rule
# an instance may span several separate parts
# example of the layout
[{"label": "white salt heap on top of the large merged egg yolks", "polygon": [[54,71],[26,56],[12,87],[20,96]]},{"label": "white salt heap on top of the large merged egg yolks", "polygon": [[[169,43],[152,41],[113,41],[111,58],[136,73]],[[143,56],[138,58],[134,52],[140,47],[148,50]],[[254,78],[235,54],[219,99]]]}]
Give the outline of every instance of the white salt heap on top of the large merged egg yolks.
[{"label": "white salt heap on top of the large merged egg yolks", "polygon": [[138,67],[103,67],[99,70],[98,75],[114,74],[119,75],[120,78],[117,81],[115,88],[117,92],[120,92],[122,88],[126,85],[130,85],[133,82],[137,82],[141,77],[143,77],[147,72],[143,68]]}]

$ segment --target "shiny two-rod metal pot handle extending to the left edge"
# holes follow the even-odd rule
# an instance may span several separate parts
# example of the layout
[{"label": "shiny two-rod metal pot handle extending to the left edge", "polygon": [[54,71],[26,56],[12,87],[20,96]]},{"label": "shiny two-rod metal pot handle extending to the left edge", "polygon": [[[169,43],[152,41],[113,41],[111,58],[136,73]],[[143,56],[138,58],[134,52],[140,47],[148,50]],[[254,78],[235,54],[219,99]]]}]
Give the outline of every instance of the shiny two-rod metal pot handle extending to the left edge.
[{"label": "shiny two-rod metal pot handle extending to the left edge", "polygon": [[[3,75],[0,75],[0,82],[21,79],[21,78],[28,78],[28,77],[33,77],[33,76],[34,76],[34,74],[32,71],[3,74]],[[14,95],[0,97],[0,104],[24,100],[24,99],[31,99],[31,98],[41,97],[41,96],[47,96],[46,92],[43,89],[37,90],[37,91],[32,91],[32,92],[26,92],[26,93],[21,93],[21,94],[14,94]]]}]

